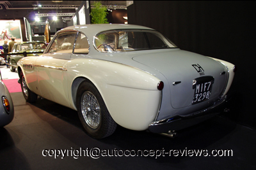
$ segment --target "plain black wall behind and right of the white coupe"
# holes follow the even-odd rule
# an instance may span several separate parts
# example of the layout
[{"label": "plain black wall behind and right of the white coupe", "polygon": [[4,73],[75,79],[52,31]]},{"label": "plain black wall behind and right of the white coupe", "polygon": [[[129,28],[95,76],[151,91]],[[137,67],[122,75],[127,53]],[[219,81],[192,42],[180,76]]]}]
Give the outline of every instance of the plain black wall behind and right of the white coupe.
[{"label": "plain black wall behind and right of the white coupe", "polygon": [[152,27],[182,50],[215,57],[237,66],[230,94],[236,122],[256,128],[254,1],[133,1],[128,24]]}]

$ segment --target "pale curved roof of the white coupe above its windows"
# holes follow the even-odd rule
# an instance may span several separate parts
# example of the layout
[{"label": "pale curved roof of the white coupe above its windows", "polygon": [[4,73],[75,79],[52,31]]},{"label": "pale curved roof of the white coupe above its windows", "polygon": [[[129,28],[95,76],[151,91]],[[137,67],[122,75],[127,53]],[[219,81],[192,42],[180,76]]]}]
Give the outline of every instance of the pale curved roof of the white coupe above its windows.
[{"label": "pale curved roof of the white coupe above its windows", "polygon": [[82,32],[86,32],[86,34],[95,35],[102,31],[108,31],[113,29],[148,29],[148,30],[154,30],[149,27],[144,27],[141,25],[131,25],[131,24],[86,24],[86,25],[73,25],[70,27],[66,27],[63,30],[78,30]]}]

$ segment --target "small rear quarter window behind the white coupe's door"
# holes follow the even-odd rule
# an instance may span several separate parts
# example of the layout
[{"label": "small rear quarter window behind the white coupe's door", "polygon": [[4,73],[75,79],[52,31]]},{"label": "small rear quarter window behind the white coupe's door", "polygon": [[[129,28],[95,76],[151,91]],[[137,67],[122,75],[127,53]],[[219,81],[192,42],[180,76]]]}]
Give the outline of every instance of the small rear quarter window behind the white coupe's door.
[{"label": "small rear quarter window behind the white coupe's door", "polygon": [[74,53],[89,53],[89,43],[87,37],[82,34],[78,33],[77,40],[76,40],[76,46],[74,49]]}]

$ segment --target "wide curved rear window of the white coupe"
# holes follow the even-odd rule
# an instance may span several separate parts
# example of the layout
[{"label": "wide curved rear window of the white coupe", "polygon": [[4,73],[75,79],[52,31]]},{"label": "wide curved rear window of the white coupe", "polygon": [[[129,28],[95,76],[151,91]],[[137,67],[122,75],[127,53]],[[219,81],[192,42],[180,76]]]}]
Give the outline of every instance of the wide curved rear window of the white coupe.
[{"label": "wide curved rear window of the white coupe", "polygon": [[159,32],[139,29],[100,32],[95,36],[94,45],[100,52],[177,48]]}]

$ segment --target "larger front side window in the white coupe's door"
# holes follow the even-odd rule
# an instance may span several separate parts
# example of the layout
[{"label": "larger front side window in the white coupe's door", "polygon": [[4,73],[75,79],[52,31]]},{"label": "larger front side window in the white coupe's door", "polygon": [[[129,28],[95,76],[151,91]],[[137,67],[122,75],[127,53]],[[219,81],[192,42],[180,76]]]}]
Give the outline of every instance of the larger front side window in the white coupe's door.
[{"label": "larger front side window in the white coupe's door", "polygon": [[53,40],[49,53],[72,53],[77,32],[62,32]]}]

